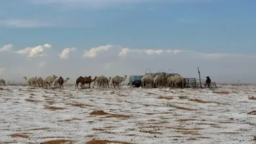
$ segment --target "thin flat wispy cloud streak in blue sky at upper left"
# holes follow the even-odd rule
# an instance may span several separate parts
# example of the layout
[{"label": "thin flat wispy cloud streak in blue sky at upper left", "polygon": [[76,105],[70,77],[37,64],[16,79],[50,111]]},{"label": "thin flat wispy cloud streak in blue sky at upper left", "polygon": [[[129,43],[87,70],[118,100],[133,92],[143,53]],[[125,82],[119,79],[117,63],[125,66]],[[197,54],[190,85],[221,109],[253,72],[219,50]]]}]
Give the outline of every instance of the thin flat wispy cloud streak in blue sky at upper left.
[{"label": "thin flat wispy cloud streak in blue sky at upper left", "polygon": [[45,27],[45,26],[53,26],[53,23],[44,22],[40,20],[8,19],[8,20],[0,20],[0,26]]}]

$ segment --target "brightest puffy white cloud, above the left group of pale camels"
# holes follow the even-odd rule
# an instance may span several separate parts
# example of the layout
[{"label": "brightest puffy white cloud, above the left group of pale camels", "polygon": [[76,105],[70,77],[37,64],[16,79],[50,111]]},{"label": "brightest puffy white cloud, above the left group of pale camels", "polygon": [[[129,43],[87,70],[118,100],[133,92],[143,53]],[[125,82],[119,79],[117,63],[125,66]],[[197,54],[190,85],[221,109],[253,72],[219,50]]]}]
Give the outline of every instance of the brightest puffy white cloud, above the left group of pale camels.
[{"label": "brightest puffy white cloud, above the left group of pale camels", "polygon": [[47,56],[47,54],[43,54],[45,48],[51,48],[51,45],[45,44],[43,46],[40,45],[40,46],[35,46],[35,47],[27,47],[22,50],[15,51],[15,53],[26,55],[27,58],[29,58],[31,60],[31,58],[35,58],[38,56],[40,56],[40,57]]}]

